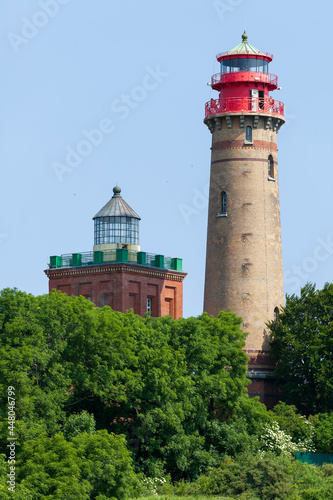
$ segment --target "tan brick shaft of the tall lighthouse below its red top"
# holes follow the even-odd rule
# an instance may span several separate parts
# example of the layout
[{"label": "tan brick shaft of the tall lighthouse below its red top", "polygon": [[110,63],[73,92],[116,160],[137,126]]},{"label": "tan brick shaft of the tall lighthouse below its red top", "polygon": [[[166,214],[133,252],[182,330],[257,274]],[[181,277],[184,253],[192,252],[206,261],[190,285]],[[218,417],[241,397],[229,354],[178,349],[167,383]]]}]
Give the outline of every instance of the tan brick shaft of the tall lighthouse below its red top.
[{"label": "tan brick shaft of the tall lighthouse below its red top", "polygon": [[[204,310],[217,315],[231,308],[243,318],[254,365],[268,350],[266,322],[284,303],[276,123],[267,116],[224,115],[212,133]],[[247,125],[253,144],[245,141]],[[227,216],[219,216],[222,191]]]}]

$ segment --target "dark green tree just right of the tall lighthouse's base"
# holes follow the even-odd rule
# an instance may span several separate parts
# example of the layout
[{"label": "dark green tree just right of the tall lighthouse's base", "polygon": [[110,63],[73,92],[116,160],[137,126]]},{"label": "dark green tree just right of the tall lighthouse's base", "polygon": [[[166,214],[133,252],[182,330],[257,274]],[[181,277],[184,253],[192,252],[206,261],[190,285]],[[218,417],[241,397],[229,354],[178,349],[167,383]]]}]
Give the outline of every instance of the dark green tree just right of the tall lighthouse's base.
[{"label": "dark green tree just right of the tall lighthouse's base", "polygon": [[278,321],[270,323],[276,376],[287,402],[305,414],[333,411],[333,284],[286,297]]}]

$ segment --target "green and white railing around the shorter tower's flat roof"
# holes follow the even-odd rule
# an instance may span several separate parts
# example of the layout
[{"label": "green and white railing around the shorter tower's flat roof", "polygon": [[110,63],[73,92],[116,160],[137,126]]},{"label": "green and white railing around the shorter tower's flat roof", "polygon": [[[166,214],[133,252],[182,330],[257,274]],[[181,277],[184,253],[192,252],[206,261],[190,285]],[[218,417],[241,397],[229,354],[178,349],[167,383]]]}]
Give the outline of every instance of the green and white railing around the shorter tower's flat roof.
[{"label": "green and white railing around the shorter tower's flat roof", "polygon": [[148,252],[136,252],[127,248],[117,248],[116,250],[69,253],[63,255],[52,255],[50,257],[49,268],[61,269],[69,267],[95,266],[109,263],[130,263],[140,266],[157,267],[159,269],[169,269],[171,271],[183,270],[183,259],[178,257],[165,257],[160,254]]}]

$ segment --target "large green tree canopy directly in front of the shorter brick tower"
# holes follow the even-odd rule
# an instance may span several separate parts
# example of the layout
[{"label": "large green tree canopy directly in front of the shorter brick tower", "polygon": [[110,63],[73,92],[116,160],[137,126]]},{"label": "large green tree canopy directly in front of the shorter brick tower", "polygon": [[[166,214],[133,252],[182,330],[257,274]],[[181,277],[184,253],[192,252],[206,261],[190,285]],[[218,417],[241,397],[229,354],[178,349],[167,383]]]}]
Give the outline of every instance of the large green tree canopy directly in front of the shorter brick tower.
[{"label": "large green tree canopy directly in front of the shorter brick tower", "polygon": [[246,392],[240,323],[231,312],[141,318],[61,292],[4,290],[2,421],[14,386],[20,445],[59,431],[74,439],[95,422],[126,436],[138,469],[194,478],[216,459],[216,432],[226,433],[212,422],[230,419]]}]

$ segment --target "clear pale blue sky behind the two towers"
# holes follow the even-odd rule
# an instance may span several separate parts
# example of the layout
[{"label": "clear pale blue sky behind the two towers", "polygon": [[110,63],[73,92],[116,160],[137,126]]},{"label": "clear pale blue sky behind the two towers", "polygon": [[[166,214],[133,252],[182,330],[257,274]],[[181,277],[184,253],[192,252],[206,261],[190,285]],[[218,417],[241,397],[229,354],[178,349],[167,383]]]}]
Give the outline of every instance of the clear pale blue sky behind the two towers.
[{"label": "clear pale blue sky behind the two towers", "polygon": [[333,280],[330,0],[2,0],[1,14],[0,288],[46,293],[48,257],[92,249],[118,183],[142,249],[183,258],[184,316],[202,312],[207,82],[244,27],[285,103],[285,292]]}]

